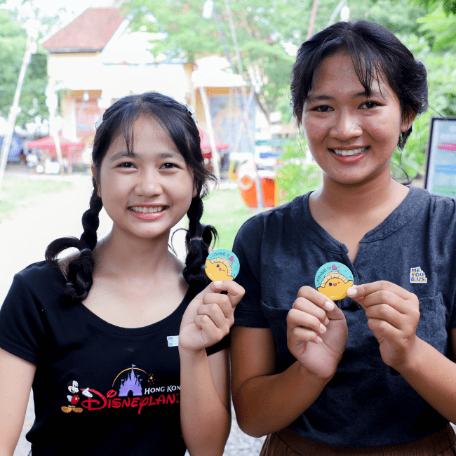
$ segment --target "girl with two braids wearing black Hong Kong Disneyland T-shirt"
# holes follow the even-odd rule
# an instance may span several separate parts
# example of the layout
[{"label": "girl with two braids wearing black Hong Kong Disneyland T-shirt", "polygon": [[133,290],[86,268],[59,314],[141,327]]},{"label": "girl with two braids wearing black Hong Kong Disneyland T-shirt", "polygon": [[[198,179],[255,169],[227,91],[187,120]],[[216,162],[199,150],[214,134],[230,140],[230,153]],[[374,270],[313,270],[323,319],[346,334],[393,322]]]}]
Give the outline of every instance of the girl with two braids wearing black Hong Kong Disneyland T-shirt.
[{"label": "girl with two braids wearing black Hong Kong Disneyland T-shirt", "polygon": [[[201,199],[213,177],[196,123],[165,95],[129,95],[103,115],[92,158],[81,239],[53,241],[1,307],[0,455],[13,455],[31,387],[33,456],[221,455],[243,288],[207,286],[216,232],[201,225]],[[102,207],[113,225],[98,241]],[[168,239],[185,214],[182,264]],[[79,253],[58,259],[70,247]]]}]

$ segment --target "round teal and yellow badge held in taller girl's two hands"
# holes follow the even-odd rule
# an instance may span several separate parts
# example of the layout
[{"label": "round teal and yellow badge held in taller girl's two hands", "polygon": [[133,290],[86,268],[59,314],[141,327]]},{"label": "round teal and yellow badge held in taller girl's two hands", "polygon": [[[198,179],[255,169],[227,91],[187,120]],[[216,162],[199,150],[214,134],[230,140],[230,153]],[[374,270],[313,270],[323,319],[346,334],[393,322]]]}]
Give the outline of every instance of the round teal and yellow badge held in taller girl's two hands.
[{"label": "round teal and yellow badge held in taller girl's two hands", "polygon": [[347,290],[353,286],[353,274],[345,264],[330,262],[316,271],[315,287],[330,300],[342,300]]}]

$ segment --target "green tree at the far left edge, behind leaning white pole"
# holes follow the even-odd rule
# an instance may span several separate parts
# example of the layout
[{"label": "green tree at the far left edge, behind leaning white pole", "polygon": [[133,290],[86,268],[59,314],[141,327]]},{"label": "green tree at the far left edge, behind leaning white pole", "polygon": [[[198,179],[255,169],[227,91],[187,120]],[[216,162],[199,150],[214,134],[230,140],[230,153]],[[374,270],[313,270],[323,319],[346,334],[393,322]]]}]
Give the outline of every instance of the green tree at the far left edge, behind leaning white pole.
[{"label": "green tree at the far left edge, behind leaning white pole", "polygon": [[[25,53],[27,32],[15,20],[11,11],[0,9],[0,116],[7,118],[18,83],[22,58]],[[36,116],[46,118],[46,55],[39,50],[32,55],[20,96],[20,113],[16,124],[25,126]]]}]

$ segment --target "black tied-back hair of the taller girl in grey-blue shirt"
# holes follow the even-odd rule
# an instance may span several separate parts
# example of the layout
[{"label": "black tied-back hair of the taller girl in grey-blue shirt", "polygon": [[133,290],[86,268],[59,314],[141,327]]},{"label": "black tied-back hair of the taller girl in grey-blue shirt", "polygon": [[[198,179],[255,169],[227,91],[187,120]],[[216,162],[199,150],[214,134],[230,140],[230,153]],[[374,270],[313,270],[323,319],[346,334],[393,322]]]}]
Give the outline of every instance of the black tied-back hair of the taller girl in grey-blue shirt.
[{"label": "black tied-back hair of the taller girl in grey-blue shirt", "polygon": [[[427,109],[427,72],[394,34],[381,25],[366,20],[337,22],[314,34],[297,51],[291,76],[293,114],[302,121],[304,102],[323,60],[337,53],[347,53],[356,75],[369,96],[374,80],[383,76],[396,93],[402,120],[413,119]],[[401,133],[398,147],[403,149],[412,126]]]}]

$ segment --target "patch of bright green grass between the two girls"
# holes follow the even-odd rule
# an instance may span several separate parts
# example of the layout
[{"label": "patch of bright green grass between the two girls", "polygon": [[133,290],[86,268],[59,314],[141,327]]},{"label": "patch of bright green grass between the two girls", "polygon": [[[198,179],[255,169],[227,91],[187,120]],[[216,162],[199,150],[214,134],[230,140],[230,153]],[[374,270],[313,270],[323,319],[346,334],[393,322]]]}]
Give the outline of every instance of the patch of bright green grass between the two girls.
[{"label": "patch of bright green grass between the two girls", "polygon": [[239,228],[257,213],[242,201],[239,189],[215,190],[203,200],[204,213],[201,222],[213,224],[218,232],[215,248],[232,250]]}]

